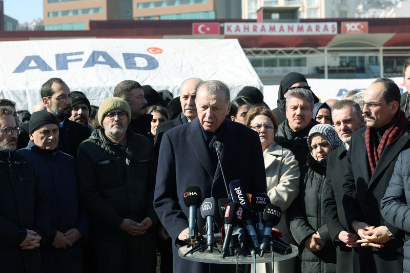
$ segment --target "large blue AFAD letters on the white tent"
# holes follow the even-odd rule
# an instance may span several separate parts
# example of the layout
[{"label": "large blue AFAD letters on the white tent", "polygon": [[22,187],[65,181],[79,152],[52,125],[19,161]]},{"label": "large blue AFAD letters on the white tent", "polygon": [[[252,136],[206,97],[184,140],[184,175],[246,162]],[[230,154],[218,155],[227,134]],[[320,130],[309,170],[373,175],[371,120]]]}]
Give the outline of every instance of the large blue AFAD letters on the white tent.
[{"label": "large blue AFAD letters on the white tent", "polygon": [[[55,70],[68,70],[69,62],[81,62],[83,58],[69,58],[71,56],[84,55],[83,51],[68,52],[55,54]],[[141,53],[122,53],[124,59],[125,69],[130,70],[154,70],[159,64],[154,57]],[[136,59],[145,59],[146,66],[139,66]],[[122,69],[118,62],[110,56],[106,51],[93,51],[83,65],[83,68],[94,67],[95,65],[104,65],[111,68]],[[13,73],[23,73],[26,70],[53,71],[47,62],[39,55],[25,56],[22,62],[17,66]]]}]

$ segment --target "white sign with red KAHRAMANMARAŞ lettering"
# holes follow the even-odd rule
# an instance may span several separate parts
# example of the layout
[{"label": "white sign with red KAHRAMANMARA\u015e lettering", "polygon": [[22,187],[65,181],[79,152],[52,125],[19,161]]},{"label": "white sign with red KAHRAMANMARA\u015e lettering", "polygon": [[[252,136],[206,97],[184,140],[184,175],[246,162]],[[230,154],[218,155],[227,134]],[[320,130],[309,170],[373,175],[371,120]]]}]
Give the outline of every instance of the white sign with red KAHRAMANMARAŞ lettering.
[{"label": "white sign with red KAHRAMANMARA\u015e lettering", "polygon": [[336,35],[336,22],[224,23],[224,35]]}]

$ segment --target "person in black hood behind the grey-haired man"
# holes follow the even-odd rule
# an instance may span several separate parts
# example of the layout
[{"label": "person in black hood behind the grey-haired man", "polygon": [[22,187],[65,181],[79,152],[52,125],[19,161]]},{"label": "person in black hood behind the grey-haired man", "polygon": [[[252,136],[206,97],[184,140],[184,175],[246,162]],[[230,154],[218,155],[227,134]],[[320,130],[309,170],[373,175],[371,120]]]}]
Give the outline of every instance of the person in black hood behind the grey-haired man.
[{"label": "person in black hood behind the grey-haired man", "polygon": [[[280,81],[277,108],[272,110],[279,124],[286,120],[286,92],[296,87],[303,87],[305,89],[311,90],[308,85],[308,80],[306,80],[303,74],[297,72],[286,74]],[[318,97],[316,97],[313,92],[312,95],[314,102],[319,102]]]}]

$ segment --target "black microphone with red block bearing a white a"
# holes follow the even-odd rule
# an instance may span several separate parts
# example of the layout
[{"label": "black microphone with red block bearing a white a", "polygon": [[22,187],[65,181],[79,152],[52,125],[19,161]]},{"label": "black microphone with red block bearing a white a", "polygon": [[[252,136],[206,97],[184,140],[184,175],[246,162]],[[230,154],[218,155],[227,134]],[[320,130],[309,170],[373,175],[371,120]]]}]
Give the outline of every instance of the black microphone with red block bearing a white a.
[{"label": "black microphone with red block bearing a white a", "polygon": [[224,220],[225,223],[228,224],[228,228],[226,230],[225,240],[223,240],[222,245],[222,259],[225,258],[227,251],[229,251],[229,245],[231,243],[234,226],[239,225],[239,223],[242,221],[242,214],[243,208],[239,203],[230,202],[227,205]]}]

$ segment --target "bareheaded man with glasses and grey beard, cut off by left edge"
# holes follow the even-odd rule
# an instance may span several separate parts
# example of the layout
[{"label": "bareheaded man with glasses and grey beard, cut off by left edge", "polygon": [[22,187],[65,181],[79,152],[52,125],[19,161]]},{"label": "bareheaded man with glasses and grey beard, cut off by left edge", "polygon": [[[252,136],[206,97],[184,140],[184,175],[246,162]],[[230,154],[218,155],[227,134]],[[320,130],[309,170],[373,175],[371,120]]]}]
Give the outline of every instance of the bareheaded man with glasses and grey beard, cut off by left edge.
[{"label": "bareheaded man with glasses and grey beard, cut off by left edge", "polygon": [[14,110],[0,107],[0,268],[40,273],[40,243],[50,230],[50,203],[31,164],[15,152]]}]

